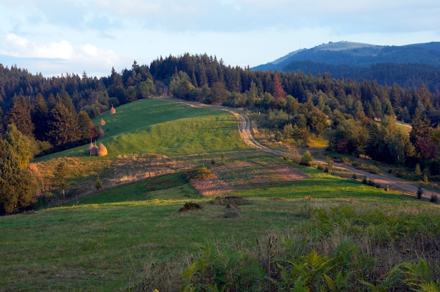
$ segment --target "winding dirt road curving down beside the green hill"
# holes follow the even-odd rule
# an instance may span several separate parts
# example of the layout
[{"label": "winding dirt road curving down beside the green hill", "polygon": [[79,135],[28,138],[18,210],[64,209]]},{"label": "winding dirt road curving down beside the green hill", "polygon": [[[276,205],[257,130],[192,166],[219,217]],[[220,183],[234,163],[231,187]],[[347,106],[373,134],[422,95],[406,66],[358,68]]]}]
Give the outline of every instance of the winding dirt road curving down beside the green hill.
[{"label": "winding dirt road curving down beside the green hill", "polygon": [[[269,147],[261,145],[257,140],[254,139],[254,136],[252,135],[252,124],[249,117],[247,117],[245,113],[240,112],[239,110],[231,109],[230,107],[223,107],[220,105],[204,105],[199,102],[177,100],[175,98],[170,98],[170,97],[162,97],[160,99],[183,103],[189,105],[190,107],[209,107],[209,108],[214,108],[216,110],[224,110],[226,112],[231,112],[231,114],[233,114],[238,119],[238,129],[240,131],[240,136],[247,145],[254,147],[257,150],[264,151],[266,153],[275,156],[280,157],[281,155],[283,155],[282,151],[273,150]],[[314,159],[314,162],[316,164],[325,164],[325,165],[327,164],[326,161],[321,161],[318,159]],[[402,192],[404,194],[409,194],[411,196],[415,196],[418,191],[417,185],[411,185],[410,183],[407,183],[403,180],[400,180],[399,178],[394,177],[394,175],[373,174],[373,173],[369,173],[368,171],[363,171],[361,169],[354,168],[353,166],[349,166],[347,164],[341,164],[341,163],[334,163],[333,168],[336,168],[339,171],[356,174],[358,178],[363,178],[365,176],[366,178],[373,180],[375,183],[381,185],[381,187],[388,187],[390,190]],[[423,190],[422,197],[424,199],[431,199],[432,195],[436,195],[438,198],[440,198],[439,192]]]}]

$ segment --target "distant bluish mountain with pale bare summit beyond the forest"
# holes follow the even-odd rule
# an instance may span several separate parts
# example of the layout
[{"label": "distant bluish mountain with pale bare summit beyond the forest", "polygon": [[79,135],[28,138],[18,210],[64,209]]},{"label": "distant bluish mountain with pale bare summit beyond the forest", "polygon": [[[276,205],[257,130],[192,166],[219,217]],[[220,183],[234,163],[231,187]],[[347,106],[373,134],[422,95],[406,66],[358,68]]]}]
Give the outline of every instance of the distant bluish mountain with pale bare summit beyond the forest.
[{"label": "distant bluish mountain with pale bare summit beyond the forest", "polygon": [[255,70],[329,73],[334,78],[375,80],[378,84],[399,84],[403,88],[440,91],[440,42],[408,46],[375,46],[348,41],[323,44],[285,55]]}]

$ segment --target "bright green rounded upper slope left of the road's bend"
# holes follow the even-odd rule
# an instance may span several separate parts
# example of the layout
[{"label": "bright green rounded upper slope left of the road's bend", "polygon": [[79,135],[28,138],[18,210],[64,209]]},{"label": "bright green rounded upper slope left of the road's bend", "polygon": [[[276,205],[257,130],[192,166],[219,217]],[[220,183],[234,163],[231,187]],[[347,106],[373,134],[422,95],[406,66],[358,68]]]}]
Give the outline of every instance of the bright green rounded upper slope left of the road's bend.
[{"label": "bright green rounded upper slope left of the road's bend", "polygon": [[[105,120],[105,135],[99,138],[108,149],[108,159],[124,154],[163,154],[180,157],[190,154],[245,149],[230,113],[188,107],[158,99],[138,100],[105,112],[93,124]],[[86,147],[58,152],[36,161],[58,157],[86,157]]]}]

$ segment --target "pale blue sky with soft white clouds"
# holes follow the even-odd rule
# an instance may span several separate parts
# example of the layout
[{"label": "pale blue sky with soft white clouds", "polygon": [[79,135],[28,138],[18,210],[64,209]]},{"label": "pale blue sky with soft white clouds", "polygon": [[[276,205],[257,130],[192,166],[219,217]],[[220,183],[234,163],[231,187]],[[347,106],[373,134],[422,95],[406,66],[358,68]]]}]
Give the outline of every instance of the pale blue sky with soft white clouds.
[{"label": "pale blue sky with soft white clouds", "polygon": [[440,41],[438,0],[1,0],[0,63],[110,75],[184,53],[254,67],[330,41]]}]

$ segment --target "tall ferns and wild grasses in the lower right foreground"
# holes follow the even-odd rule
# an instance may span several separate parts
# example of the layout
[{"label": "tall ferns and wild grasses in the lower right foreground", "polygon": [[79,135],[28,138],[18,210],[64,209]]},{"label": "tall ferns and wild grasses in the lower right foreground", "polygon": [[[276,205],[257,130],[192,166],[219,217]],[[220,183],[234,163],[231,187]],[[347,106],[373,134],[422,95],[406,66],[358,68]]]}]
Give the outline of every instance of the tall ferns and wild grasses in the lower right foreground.
[{"label": "tall ferns and wild grasses in the lower right foreground", "polygon": [[438,211],[297,204],[309,220],[268,232],[251,248],[207,244],[186,265],[152,264],[134,291],[440,290]]}]

